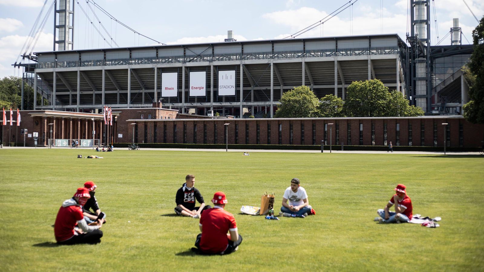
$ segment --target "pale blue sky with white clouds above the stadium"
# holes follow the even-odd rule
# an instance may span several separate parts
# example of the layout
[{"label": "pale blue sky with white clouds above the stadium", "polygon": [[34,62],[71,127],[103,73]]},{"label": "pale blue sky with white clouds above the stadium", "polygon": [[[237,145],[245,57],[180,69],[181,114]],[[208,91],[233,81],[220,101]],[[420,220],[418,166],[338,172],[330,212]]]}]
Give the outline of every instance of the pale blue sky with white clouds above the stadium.
[{"label": "pale blue sky with white clouds above the stadium", "polygon": [[[71,0],[75,2],[74,49],[223,42],[227,30],[238,41],[282,39],[319,22],[349,0]],[[45,27],[26,41],[46,2]],[[20,54],[53,50],[53,0],[0,0],[0,78],[21,76],[12,66]],[[299,37],[333,37],[397,33],[405,40],[408,0],[351,0],[353,5],[323,25]],[[444,36],[459,18],[463,44],[472,43],[472,30],[484,15],[482,0],[431,0],[431,45],[449,45]],[[96,5],[115,19],[105,15]],[[96,15],[96,16],[94,16]],[[435,22],[437,19],[437,22]],[[101,23],[99,23],[99,21]],[[153,41],[122,26],[150,37]],[[436,27],[437,24],[437,27]],[[98,29],[101,34],[97,32]],[[436,31],[438,30],[438,31]],[[439,34],[439,38],[437,38]],[[38,38],[37,38],[38,37]],[[107,42],[103,39],[106,39]],[[111,37],[111,38],[110,38]],[[467,40],[466,40],[467,38]],[[111,42],[111,39],[116,42]],[[32,40],[32,39],[30,39]],[[469,42],[468,42],[469,41]],[[33,45],[33,43],[31,43]],[[22,50],[22,47],[24,49]],[[32,48],[33,47],[33,48]],[[28,60],[24,60],[28,62]]]}]

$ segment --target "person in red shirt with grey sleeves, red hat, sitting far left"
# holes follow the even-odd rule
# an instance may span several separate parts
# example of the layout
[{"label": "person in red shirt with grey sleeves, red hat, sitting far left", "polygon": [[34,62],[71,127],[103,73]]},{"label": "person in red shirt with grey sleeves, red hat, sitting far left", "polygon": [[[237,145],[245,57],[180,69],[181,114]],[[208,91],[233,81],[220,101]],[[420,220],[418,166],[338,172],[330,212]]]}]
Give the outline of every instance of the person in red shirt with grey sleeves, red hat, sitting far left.
[{"label": "person in red shirt with grey sleeves, red hat, sitting far left", "polygon": [[[58,244],[99,243],[103,237],[100,228],[102,220],[97,226],[89,226],[82,214],[82,206],[91,196],[86,187],[77,188],[76,194],[62,203],[54,223],[54,236]],[[80,229],[76,229],[77,226]]]}]

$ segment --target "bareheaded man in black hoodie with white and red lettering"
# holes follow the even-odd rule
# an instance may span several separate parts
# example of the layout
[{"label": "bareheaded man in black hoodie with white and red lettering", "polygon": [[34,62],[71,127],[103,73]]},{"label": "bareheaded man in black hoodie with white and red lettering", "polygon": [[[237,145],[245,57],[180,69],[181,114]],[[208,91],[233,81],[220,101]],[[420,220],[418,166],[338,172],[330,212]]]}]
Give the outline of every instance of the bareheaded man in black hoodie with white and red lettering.
[{"label": "bareheaded man in black hoodie with white and red lettering", "polygon": [[[200,203],[200,207],[195,207],[195,199]],[[177,203],[175,212],[178,215],[191,216],[193,218],[200,218],[200,214],[204,210],[212,208],[209,205],[205,205],[203,196],[195,188],[194,175],[187,175],[185,177],[185,183],[178,189],[175,202]]]}]

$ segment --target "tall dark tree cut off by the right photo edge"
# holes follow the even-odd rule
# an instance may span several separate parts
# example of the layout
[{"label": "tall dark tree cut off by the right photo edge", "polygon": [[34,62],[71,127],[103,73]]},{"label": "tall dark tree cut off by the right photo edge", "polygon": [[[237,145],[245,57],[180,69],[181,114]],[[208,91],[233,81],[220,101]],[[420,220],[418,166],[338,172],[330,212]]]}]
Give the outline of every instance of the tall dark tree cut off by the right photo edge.
[{"label": "tall dark tree cut off by the right photo edge", "polygon": [[469,103],[464,105],[464,117],[473,123],[484,123],[484,16],[472,31],[474,51],[464,70],[469,83]]}]

